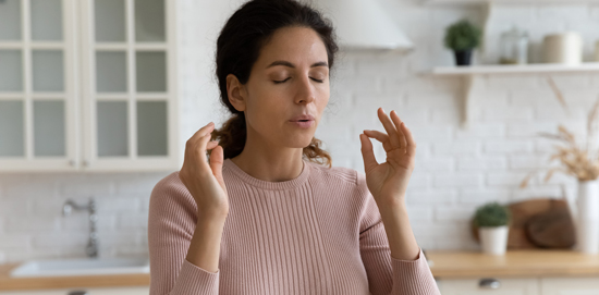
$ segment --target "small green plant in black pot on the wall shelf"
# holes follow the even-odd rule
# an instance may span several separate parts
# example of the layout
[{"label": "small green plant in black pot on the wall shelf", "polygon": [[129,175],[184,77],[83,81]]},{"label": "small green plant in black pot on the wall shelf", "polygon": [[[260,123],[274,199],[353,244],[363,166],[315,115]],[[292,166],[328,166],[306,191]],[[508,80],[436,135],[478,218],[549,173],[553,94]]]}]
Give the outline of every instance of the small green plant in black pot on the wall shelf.
[{"label": "small green plant in black pot on the wall shelf", "polygon": [[445,47],[453,50],[457,65],[468,65],[472,52],[480,44],[481,30],[467,20],[462,20],[448,27]]}]

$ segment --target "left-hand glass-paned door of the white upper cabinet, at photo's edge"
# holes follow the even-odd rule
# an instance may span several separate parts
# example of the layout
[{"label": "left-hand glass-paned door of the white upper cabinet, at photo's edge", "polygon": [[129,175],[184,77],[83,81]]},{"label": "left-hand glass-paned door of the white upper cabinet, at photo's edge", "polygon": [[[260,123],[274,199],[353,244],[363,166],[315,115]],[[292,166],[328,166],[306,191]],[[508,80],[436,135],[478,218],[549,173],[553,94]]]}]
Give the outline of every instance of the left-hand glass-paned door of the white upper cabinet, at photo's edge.
[{"label": "left-hand glass-paned door of the white upper cabinet, at photo's edge", "polygon": [[0,170],[77,167],[72,0],[0,1]]}]

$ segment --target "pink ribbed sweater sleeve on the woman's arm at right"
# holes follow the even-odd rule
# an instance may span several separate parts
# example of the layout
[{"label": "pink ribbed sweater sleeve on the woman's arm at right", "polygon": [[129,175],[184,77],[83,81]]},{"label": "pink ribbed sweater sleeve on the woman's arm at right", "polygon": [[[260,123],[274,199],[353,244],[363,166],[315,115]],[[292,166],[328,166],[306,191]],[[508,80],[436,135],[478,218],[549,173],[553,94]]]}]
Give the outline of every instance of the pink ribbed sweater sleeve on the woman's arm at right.
[{"label": "pink ribbed sweater sleeve on the woman's arm at right", "polygon": [[[439,287],[426,257],[420,249],[415,260],[391,257],[384,224],[366,186],[366,177],[358,174],[358,185],[366,196],[359,225],[359,251],[372,295],[440,295]],[[364,190],[366,189],[366,190]]]}]

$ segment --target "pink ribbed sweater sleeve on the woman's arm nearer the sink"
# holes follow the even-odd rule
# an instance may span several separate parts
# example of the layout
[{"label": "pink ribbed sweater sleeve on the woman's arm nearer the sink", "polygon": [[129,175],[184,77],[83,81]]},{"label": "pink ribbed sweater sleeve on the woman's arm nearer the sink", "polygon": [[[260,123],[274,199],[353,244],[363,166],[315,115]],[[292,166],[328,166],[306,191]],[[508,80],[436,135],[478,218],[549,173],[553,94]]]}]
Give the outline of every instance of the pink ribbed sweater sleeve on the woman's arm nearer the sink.
[{"label": "pink ribbed sweater sleeve on the woman's arm nearer the sink", "polygon": [[220,271],[209,272],[185,259],[196,212],[197,205],[179,173],[154,187],[148,214],[150,295],[218,294]]}]

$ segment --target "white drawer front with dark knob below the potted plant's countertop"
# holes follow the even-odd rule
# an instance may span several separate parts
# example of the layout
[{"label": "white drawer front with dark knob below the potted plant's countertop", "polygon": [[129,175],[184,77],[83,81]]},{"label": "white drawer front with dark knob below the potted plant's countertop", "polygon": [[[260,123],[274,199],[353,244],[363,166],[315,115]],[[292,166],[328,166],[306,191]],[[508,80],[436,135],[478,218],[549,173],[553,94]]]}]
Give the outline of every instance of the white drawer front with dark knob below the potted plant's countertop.
[{"label": "white drawer front with dark knob below the potted plant's countertop", "polygon": [[439,280],[439,290],[443,295],[541,295],[539,281],[536,278],[493,278],[499,283],[494,288],[492,284],[481,283],[481,280],[484,279]]}]

